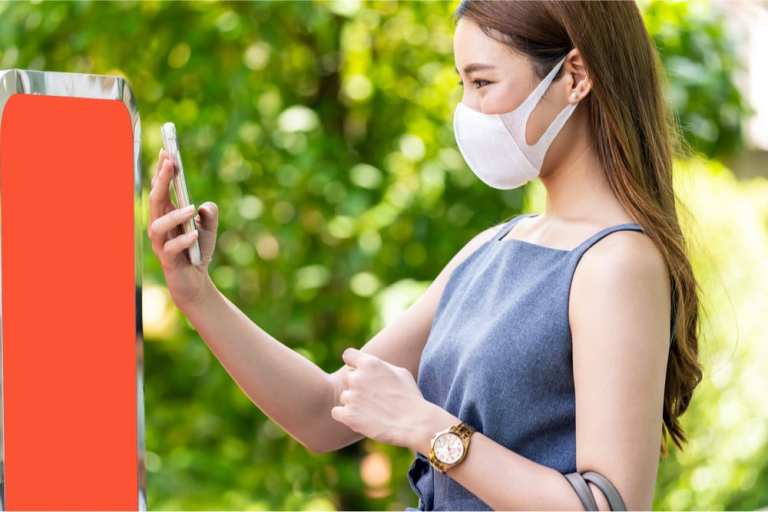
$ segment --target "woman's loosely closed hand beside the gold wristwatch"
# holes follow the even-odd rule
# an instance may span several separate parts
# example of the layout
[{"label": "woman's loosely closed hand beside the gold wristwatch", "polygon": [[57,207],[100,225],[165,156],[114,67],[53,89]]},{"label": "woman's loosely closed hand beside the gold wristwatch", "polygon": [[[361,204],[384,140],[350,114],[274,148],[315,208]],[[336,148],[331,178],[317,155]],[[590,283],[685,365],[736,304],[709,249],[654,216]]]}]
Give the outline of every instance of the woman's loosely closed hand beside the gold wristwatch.
[{"label": "woman's loosely closed hand beside the gold wristwatch", "polygon": [[331,416],[382,443],[428,452],[429,438],[455,420],[424,399],[411,372],[355,348],[342,354],[351,366]]}]

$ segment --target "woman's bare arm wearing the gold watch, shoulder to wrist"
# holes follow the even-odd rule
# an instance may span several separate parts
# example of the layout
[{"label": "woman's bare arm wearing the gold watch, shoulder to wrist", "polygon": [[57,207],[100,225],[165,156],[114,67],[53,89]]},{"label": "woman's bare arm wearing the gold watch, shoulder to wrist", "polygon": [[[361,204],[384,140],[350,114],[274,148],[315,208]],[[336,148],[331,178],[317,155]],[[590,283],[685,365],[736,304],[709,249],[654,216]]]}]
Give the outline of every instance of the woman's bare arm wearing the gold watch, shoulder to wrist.
[{"label": "woman's bare arm wearing the gold watch, shoulder to wrist", "polygon": [[[650,245],[649,245],[650,244]],[[627,510],[649,510],[659,460],[670,302],[666,267],[649,239],[608,237],[579,263],[571,290],[576,393],[576,466],[603,474]],[[434,406],[414,449],[459,421]],[[580,510],[554,468],[523,457],[481,433],[447,474],[493,509]],[[608,502],[589,484],[600,510]]]}]

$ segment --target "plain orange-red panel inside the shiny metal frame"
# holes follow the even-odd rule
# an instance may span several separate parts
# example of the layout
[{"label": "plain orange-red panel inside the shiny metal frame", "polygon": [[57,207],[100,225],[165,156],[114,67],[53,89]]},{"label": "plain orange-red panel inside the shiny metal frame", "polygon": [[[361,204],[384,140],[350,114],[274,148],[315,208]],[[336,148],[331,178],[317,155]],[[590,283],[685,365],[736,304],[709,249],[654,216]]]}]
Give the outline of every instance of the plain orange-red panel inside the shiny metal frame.
[{"label": "plain orange-red panel inside the shiny metal frame", "polygon": [[117,100],[0,125],[6,509],[136,509],[133,134]]}]

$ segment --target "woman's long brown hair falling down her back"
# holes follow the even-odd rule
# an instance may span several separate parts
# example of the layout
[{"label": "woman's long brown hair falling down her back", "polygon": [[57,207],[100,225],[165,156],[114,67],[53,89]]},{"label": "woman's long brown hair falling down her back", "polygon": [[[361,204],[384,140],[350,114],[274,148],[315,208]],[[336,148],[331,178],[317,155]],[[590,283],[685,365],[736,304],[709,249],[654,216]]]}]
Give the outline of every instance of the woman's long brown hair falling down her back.
[{"label": "woman's long brown hair falling down her back", "polygon": [[587,109],[593,147],[613,193],[659,248],[669,271],[672,329],[661,453],[668,454],[667,434],[682,449],[687,439],[678,418],[702,378],[699,286],[672,189],[673,154],[687,154],[689,147],[664,101],[663,68],[637,5],[462,0],[454,19],[461,17],[529,57],[540,79],[571,49],[579,49],[592,82],[580,108]]}]

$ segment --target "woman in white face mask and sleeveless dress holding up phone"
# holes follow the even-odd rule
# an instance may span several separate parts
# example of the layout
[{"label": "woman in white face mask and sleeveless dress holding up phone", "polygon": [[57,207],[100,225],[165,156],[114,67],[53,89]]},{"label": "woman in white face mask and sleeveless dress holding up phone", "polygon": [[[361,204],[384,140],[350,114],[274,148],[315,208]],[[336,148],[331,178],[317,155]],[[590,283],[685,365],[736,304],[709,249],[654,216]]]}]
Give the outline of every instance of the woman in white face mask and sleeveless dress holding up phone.
[{"label": "woman in white face mask and sleeveless dress holding up phone", "polygon": [[214,203],[195,217],[204,263],[189,264],[195,235],[179,225],[194,208],[170,203],[162,152],[153,250],[176,305],[266,415],[313,452],[363,437],[412,449],[420,509],[579,509],[564,477],[577,470],[649,509],[660,447],[668,434],[682,448],[701,379],[653,45],[631,2],[464,1],[456,18],[458,146],[495,188],[538,176],[546,209],[478,233],[344,366],[327,374],[215,288]]}]

